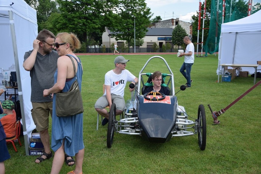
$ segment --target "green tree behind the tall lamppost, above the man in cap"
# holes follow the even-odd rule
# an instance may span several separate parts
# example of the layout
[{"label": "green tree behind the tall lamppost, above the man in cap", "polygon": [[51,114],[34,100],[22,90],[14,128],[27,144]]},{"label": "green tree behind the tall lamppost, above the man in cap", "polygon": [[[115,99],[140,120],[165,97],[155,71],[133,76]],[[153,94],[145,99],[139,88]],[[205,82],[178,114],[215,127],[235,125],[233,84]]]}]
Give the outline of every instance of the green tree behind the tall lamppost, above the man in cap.
[{"label": "green tree behind the tall lamppost, above the man in cap", "polygon": [[144,38],[147,26],[151,18],[150,8],[145,0],[121,0],[116,10],[115,24],[108,27],[112,32],[112,37],[116,40],[125,40],[130,47],[130,40],[134,39],[134,17],[135,17],[135,38]]}]

